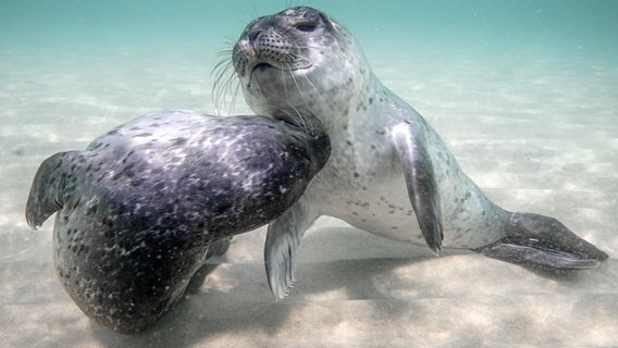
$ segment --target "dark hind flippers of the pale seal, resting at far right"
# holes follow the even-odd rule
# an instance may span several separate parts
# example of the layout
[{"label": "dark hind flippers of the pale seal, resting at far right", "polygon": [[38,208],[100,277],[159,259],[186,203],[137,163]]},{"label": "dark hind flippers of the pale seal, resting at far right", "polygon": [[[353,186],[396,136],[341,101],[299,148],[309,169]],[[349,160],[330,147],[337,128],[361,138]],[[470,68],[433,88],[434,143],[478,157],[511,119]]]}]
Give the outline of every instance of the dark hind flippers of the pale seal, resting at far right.
[{"label": "dark hind flippers of the pale seal, resting at far right", "polygon": [[511,263],[557,270],[593,269],[608,257],[556,219],[532,213],[512,213],[506,237],[473,251]]}]

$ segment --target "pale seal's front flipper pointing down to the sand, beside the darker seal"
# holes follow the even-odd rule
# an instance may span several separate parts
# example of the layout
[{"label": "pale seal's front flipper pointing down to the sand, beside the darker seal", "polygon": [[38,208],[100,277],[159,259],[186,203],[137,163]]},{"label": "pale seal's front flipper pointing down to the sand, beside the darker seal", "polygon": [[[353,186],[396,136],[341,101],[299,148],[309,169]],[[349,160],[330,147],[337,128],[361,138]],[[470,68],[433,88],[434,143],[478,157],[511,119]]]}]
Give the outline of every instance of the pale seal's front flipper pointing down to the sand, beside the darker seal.
[{"label": "pale seal's front flipper pointing down to the sand, beside the darker seal", "polygon": [[294,283],[296,250],[305,231],[318,219],[309,212],[302,198],[269,224],[264,245],[264,264],[271,291],[284,298]]}]

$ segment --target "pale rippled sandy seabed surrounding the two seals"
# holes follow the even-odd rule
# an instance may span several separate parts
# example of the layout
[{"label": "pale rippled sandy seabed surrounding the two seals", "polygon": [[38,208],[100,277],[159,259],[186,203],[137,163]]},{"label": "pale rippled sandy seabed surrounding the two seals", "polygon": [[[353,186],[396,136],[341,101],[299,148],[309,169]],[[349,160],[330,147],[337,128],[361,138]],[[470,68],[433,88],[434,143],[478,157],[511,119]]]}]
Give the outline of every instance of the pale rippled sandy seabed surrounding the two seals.
[{"label": "pale rippled sandy seabed surrounding the two seals", "polygon": [[[551,275],[462,251],[434,258],[322,217],[285,300],[269,291],[260,228],[236,237],[152,330],[91,323],[55,278],[52,219],[26,225],[29,185],[45,158],[139,114],[214,112],[215,52],[188,51],[3,52],[0,346],[618,346],[618,66],[585,60],[369,54],[489,197],[559,219],[609,253],[598,269]],[[250,113],[242,96],[234,113]]]}]

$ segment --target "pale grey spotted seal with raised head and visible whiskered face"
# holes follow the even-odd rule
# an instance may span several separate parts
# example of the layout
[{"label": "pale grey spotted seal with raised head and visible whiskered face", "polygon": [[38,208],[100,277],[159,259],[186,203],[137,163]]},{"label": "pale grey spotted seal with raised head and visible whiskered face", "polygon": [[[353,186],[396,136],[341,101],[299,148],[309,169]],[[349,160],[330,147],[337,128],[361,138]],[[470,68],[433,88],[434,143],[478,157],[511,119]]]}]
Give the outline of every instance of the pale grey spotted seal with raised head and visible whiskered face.
[{"label": "pale grey spotted seal with raised head and visible whiskered face", "polygon": [[[354,36],[318,10],[256,18],[232,51],[258,114],[317,115],[332,154],[314,184],[269,225],[264,259],[277,297],[294,281],[305,231],[331,215],[415,245],[470,249],[527,265],[580,270],[607,258],[555,219],[506,211],[460,170],[431,125],[382,85]],[[283,91],[283,92],[282,92]]]}]

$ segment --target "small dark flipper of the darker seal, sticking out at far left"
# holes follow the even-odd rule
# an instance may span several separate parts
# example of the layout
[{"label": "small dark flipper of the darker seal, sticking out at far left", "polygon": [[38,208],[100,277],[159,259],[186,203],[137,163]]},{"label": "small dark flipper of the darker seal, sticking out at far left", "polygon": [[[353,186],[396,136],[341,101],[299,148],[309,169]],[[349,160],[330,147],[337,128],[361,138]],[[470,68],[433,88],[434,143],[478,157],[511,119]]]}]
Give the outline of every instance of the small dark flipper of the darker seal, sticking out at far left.
[{"label": "small dark flipper of the darker seal, sticking out at far left", "polygon": [[77,151],[59,152],[46,159],[37,170],[26,202],[26,221],[36,229],[64,206],[64,187],[70,176],[65,165]]}]

